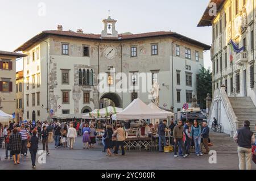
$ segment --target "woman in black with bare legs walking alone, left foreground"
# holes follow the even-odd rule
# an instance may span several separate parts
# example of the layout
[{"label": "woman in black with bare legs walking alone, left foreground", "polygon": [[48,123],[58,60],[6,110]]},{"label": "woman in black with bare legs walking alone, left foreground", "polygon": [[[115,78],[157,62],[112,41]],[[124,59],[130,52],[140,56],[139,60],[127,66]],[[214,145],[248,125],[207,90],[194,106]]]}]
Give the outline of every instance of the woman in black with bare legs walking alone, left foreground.
[{"label": "woman in black with bare legs walking alone, left foreground", "polygon": [[30,141],[28,141],[28,145],[27,145],[27,147],[30,149],[33,169],[35,169],[36,152],[38,152],[38,137],[36,137],[37,133],[38,132],[35,129],[32,131],[32,136],[30,138]]}]

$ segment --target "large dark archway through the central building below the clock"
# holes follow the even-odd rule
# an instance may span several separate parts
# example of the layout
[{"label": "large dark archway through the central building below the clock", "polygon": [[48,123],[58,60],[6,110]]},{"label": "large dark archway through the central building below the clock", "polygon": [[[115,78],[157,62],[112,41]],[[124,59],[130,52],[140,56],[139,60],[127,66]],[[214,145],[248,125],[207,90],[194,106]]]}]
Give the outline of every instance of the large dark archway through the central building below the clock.
[{"label": "large dark archway through the central building below the clock", "polygon": [[101,96],[100,108],[104,108],[108,106],[122,107],[121,102],[122,102],[122,99],[118,94],[109,92]]}]

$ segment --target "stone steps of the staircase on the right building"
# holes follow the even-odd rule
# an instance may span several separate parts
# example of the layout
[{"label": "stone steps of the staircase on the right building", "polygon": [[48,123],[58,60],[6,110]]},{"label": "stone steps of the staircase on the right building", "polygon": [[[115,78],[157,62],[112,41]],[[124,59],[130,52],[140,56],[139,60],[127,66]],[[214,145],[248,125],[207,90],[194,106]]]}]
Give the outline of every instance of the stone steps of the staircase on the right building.
[{"label": "stone steps of the staircase on the right building", "polygon": [[253,101],[250,97],[229,97],[229,102],[234,110],[235,115],[237,116],[238,128],[243,127],[243,121],[250,121],[250,129],[255,131],[256,124],[256,107],[254,106]]}]

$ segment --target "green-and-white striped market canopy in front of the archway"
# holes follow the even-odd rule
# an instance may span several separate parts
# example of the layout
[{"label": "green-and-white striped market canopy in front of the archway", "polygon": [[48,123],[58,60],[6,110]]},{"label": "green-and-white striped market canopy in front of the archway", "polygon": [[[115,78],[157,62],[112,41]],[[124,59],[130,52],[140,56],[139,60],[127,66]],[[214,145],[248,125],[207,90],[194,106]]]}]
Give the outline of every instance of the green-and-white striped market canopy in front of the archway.
[{"label": "green-and-white striped market canopy in front of the archway", "polygon": [[109,115],[113,115],[115,113],[121,112],[123,109],[119,107],[108,106],[102,108],[100,110],[93,110],[89,114],[82,116],[82,119],[90,119],[90,118],[100,118],[100,117],[109,117]]}]

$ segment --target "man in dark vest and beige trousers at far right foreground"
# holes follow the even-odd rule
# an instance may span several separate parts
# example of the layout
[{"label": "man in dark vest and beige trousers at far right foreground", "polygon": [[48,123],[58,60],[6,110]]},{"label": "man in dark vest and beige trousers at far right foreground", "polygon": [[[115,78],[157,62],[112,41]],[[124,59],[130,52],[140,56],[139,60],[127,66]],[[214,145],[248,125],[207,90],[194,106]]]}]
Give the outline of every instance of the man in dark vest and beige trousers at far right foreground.
[{"label": "man in dark vest and beige trousers at far right foreground", "polygon": [[250,131],[250,121],[245,120],[243,128],[239,128],[233,138],[238,144],[239,169],[251,170],[251,145],[255,144],[255,136]]}]

